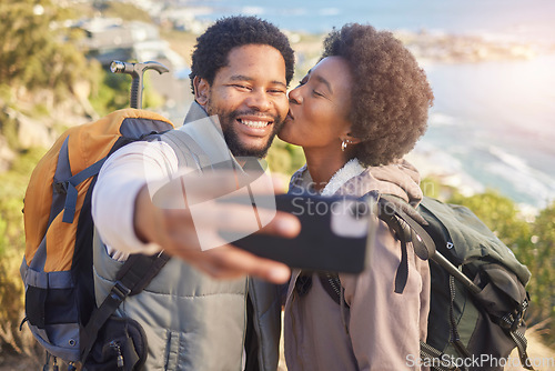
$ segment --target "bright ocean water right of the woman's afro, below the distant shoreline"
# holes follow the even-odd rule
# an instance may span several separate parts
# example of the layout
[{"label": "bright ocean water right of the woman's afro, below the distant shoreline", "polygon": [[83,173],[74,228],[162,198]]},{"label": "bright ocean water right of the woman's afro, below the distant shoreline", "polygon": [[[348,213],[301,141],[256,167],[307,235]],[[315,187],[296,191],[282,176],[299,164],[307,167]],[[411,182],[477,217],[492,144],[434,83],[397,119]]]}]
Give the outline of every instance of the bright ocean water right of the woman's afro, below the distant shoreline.
[{"label": "bright ocean water right of the woman's afro, below the distant shoreline", "polygon": [[[435,96],[414,152],[468,193],[555,201],[555,54],[525,61],[424,66]],[[424,163],[423,163],[423,161]]]}]

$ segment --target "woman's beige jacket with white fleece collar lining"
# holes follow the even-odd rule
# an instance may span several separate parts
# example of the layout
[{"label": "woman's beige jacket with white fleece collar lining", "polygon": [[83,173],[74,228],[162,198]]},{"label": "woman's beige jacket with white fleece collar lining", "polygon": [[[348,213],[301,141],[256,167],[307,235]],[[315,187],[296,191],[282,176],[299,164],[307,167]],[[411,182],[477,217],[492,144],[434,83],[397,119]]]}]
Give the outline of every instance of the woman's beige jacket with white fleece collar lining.
[{"label": "woman's beige jacket with white fleece collar lining", "polygon": [[[349,162],[323,193],[361,197],[371,190],[395,194],[417,204],[422,199],[420,176],[410,163],[362,168]],[[305,168],[293,183],[310,187]],[[339,305],[323,289],[317,275],[299,295],[293,272],[285,303],[285,360],[296,370],[420,370],[420,340],[425,340],[430,301],[430,270],[408,244],[408,279],[402,294],[394,293],[401,245],[380,221],[370,267],[361,274],[340,274],[349,307]]]}]

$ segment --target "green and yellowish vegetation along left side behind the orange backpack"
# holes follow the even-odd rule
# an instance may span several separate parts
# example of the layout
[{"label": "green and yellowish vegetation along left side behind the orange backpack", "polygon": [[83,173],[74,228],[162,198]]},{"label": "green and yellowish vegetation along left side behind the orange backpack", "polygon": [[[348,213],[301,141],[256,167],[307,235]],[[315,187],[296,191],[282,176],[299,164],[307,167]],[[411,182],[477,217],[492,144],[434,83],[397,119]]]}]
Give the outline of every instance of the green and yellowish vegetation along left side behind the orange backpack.
[{"label": "green and yellowish vegetation along left side behind the orange backpack", "polygon": [[[69,101],[65,107],[79,104],[77,87],[83,82],[100,114],[129,104],[130,78],[107,73],[98,62],[87,60],[75,42],[81,32],[62,27],[73,16],[51,0],[0,0],[0,136],[17,153],[10,169],[0,172],[0,353],[34,354],[27,327],[19,330],[24,317],[19,275],[24,251],[21,211],[32,169],[46,152],[21,146],[17,119],[9,112],[46,120],[64,101]],[[161,98],[147,88],[143,101],[157,107]],[[64,127],[63,122],[53,126]]]}]

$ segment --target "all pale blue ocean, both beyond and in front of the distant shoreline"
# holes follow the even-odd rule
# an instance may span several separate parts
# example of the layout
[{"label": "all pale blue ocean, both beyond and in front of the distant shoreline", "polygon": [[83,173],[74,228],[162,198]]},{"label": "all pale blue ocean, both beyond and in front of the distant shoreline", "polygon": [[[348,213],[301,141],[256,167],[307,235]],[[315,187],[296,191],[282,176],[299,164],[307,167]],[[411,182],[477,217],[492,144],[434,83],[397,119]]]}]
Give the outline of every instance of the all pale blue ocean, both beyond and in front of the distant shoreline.
[{"label": "all pale blue ocean, both beyond and in front of the distant shoreline", "polygon": [[413,158],[468,193],[493,188],[541,209],[555,201],[555,1],[183,1],[198,18],[254,14],[282,29],[327,32],[347,22],[377,29],[481,36],[533,44],[528,60],[424,62],[435,94]]}]

